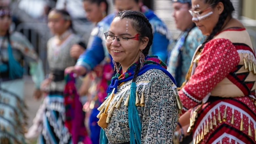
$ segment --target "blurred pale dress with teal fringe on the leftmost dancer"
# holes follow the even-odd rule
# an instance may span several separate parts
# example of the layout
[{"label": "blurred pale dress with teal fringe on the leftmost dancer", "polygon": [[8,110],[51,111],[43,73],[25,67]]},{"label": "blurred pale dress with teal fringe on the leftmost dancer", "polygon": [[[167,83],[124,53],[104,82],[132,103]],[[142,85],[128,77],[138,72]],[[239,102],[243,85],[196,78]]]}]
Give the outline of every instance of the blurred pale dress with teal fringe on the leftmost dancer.
[{"label": "blurred pale dress with teal fringe on the leftmost dancer", "polygon": [[31,43],[19,32],[10,34],[10,42],[7,36],[0,36],[0,46],[0,143],[24,144],[28,117],[23,62],[29,64],[37,89],[44,78],[42,63]]}]

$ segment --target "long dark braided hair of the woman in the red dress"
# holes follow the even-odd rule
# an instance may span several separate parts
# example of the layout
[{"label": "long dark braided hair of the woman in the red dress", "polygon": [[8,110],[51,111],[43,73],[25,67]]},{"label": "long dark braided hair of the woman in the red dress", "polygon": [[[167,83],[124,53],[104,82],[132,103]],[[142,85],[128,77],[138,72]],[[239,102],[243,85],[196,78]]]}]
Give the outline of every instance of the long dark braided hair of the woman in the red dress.
[{"label": "long dark braided hair of the woman in the red dress", "polygon": [[224,5],[224,10],[221,13],[219,20],[218,20],[217,24],[215,25],[215,27],[213,28],[210,35],[204,40],[202,46],[200,47],[201,50],[203,49],[205,43],[210,41],[218,32],[220,32],[220,30],[224,24],[224,21],[227,19],[228,16],[232,17],[232,12],[235,10],[232,2],[230,0],[204,0],[204,2],[206,4],[213,4],[213,6],[211,6],[212,8],[214,8],[219,2],[222,2]]}]

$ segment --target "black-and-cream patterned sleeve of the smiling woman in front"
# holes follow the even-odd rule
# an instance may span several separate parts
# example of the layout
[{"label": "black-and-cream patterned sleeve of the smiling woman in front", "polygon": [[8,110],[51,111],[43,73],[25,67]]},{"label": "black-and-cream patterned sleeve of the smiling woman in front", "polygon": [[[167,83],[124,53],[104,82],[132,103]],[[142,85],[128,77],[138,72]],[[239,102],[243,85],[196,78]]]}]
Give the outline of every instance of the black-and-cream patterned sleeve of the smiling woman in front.
[{"label": "black-and-cream patterned sleeve of the smiling woman in front", "polygon": [[144,90],[145,106],[141,108],[141,143],[172,143],[178,120],[173,82],[164,72],[156,69],[144,76],[149,84]]}]

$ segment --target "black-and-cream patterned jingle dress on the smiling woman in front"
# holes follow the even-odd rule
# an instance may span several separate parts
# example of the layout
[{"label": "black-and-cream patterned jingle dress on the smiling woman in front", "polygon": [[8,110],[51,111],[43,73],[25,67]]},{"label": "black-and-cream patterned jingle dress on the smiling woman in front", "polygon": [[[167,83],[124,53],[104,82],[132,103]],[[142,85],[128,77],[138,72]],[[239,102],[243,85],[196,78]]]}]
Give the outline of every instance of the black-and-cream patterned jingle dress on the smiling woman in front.
[{"label": "black-and-cream patterned jingle dress on the smiling woman in front", "polygon": [[[122,74],[117,73],[112,78],[108,90],[117,86],[117,83],[119,86],[98,108],[99,114],[107,113],[108,115],[107,127],[101,133],[102,144],[132,142],[135,139],[138,144],[172,143],[178,120],[177,87],[174,79],[170,78],[170,74],[166,74],[168,73],[166,70],[164,72],[156,67],[147,69],[153,65],[146,65],[149,59],[146,57],[144,66],[139,70],[136,84],[131,80],[136,63],[124,73],[119,70],[118,73]],[[136,96],[132,94],[133,84]],[[133,113],[130,107],[134,108],[136,113]],[[138,117],[140,123],[138,127],[133,127],[135,132],[132,132],[132,126],[130,126],[133,121],[130,118],[131,115],[134,119]]]}]

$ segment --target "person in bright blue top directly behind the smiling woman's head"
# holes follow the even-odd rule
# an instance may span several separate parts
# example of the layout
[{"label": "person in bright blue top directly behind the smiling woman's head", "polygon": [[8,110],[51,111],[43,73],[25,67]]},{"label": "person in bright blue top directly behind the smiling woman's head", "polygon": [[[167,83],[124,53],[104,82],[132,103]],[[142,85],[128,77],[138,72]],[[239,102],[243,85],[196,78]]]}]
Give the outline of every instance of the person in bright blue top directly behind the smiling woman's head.
[{"label": "person in bright blue top directly behind the smiling woman's head", "polygon": [[[141,0],[114,0],[113,2],[117,12],[123,10],[138,10],[143,12],[149,19],[154,31],[153,44],[149,53],[151,55],[157,55],[162,61],[166,61],[167,47],[171,40],[171,34],[163,21],[161,21],[152,10],[143,6]],[[115,15],[116,12],[109,14],[97,24],[97,27],[92,31],[92,34],[94,35],[92,43],[87,47],[87,50],[80,55],[75,67],[67,68],[66,72],[75,72],[78,75],[81,75],[93,70],[93,68],[102,61],[112,61],[105,46],[105,37],[103,33],[109,30]]]}]

